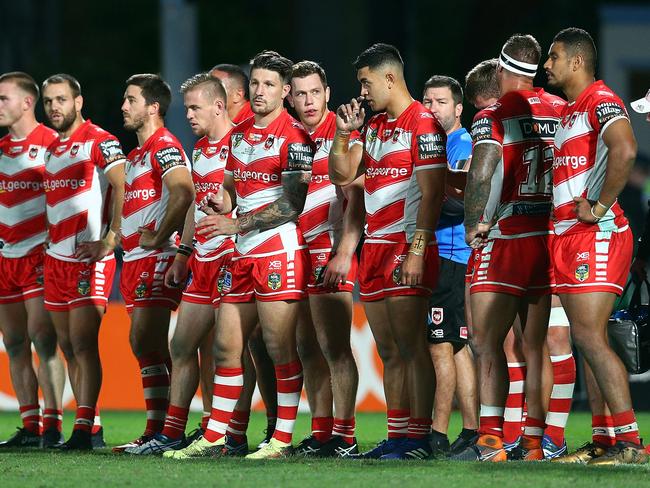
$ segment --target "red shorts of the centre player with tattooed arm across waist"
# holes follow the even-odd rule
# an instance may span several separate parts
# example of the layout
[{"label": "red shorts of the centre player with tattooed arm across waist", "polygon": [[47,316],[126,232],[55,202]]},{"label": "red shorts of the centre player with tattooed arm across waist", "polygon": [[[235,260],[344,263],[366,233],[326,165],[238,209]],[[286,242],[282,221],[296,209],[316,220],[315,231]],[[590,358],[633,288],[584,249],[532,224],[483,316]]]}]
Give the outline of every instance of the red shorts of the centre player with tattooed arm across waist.
[{"label": "red shorts of the centre player with tattooed arm across waist", "polygon": [[219,275],[222,303],[274,302],[306,297],[309,251],[246,257],[237,250]]}]

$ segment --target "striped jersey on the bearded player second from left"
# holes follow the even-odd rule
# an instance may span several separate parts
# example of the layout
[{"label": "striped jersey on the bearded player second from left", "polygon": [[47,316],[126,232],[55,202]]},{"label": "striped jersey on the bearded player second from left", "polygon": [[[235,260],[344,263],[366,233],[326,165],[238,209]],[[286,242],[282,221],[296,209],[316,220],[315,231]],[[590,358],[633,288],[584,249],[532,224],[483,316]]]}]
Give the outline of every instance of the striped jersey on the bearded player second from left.
[{"label": "striped jersey on the bearded player second from left", "polygon": [[111,210],[106,173],[123,163],[117,138],[90,120],[52,142],[44,178],[49,255],[76,262],[80,243],[104,236]]}]

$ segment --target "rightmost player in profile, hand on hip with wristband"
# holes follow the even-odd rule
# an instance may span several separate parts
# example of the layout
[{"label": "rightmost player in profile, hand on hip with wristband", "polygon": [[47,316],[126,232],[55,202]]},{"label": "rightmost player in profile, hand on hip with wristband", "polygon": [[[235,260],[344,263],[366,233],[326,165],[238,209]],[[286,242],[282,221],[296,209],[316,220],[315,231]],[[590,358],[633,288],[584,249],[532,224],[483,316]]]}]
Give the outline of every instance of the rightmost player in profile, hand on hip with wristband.
[{"label": "rightmost player in profile, hand on hip with wristband", "polygon": [[[616,199],[634,163],[636,141],[625,105],[595,80],[595,67],[596,47],[587,32],[568,28],[555,36],[544,68],[569,103],[553,154],[553,264],[573,340],[611,411],[615,444],[594,444],[558,461],[645,463],[627,373],[606,335],[632,258],[632,232]],[[598,413],[592,411],[594,421]]]}]

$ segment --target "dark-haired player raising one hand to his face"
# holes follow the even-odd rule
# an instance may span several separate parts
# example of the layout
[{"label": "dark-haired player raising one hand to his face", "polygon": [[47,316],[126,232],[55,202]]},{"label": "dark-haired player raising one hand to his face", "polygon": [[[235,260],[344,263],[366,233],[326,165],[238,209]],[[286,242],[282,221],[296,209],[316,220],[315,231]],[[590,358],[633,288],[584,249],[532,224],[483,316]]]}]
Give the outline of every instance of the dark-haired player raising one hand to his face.
[{"label": "dark-haired player raising one hand to his face", "polygon": [[357,100],[339,107],[329,157],[329,175],[337,185],[365,172],[367,226],[359,284],[384,362],[388,406],[388,440],[366,456],[425,458],[431,454],[434,376],[422,324],[437,281],[434,230],[444,195],[446,134],[409,94],[395,47],[375,44],[354,66],[361,97],[371,109],[385,110],[363,129],[361,157],[348,143],[350,131],[363,124],[365,110]]}]

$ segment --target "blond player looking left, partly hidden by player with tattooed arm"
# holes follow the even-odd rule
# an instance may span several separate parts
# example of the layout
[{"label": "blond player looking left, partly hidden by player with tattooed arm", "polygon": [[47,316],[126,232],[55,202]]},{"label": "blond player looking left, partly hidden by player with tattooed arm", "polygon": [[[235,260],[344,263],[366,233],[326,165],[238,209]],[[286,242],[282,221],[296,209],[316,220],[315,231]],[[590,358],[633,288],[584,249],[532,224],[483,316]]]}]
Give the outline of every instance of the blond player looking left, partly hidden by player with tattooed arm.
[{"label": "blond player looking left, partly hidden by player with tattooed arm", "polygon": [[[192,157],[192,179],[196,192],[194,205],[187,212],[181,244],[167,271],[165,282],[172,288],[183,287],[188,275],[190,279],[183,292],[171,340],[174,374],[171,377],[165,425],[162,432],[150,441],[126,449],[129,454],[160,454],[184,447],[190,402],[199,384],[197,350],[202,346],[201,363],[207,363],[214,371],[213,328],[215,308],[221,299],[217,281],[220,270],[230,262],[233,252],[230,236],[206,239],[194,232],[196,222],[206,215],[201,210],[203,200],[208,195],[223,192],[228,135],[233,127],[226,111],[226,91],[221,81],[207,73],[200,73],[181,85],[181,93],[192,132],[201,139],[195,144]],[[206,395],[204,398],[204,410],[210,410],[210,403],[206,405],[210,397]]]}]

